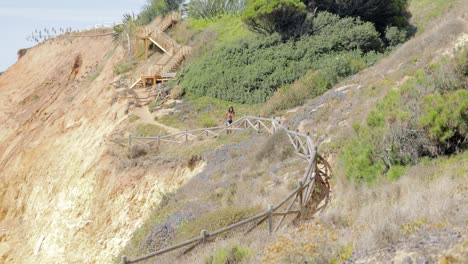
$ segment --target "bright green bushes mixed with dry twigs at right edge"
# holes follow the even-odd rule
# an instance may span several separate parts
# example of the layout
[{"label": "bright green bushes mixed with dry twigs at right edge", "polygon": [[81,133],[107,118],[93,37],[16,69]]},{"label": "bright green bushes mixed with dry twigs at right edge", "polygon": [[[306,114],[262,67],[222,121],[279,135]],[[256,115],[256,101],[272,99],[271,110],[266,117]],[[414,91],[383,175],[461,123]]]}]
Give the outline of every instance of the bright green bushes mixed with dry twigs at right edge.
[{"label": "bright green bushes mixed with dry twigs at right edge", "polygon": [[422,157],[468,149],[468,90],[464,74],[468,53],[418,72],[377,104],[341,153],[346,176],[373,182],[395,178],[401,166]]}]

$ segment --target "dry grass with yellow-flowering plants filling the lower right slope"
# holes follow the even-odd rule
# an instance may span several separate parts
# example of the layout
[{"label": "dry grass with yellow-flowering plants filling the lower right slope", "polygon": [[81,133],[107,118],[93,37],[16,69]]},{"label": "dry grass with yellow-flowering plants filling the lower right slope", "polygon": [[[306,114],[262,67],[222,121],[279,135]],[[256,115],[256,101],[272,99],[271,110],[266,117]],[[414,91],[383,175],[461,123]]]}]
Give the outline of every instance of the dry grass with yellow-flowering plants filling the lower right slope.
[{"label": "dry grass with yellow-flowering plants filling the lower right slope", "polygon": [[[400,180],[374,187],[355,186],[340,177],[326,212],[299,228],[284,230],[266,246],[261,259],[263,263],[344,263],[358,255],[365,263],[389,262],[372,260],[369,255],[385,248],[411,247],[408,244],[414,241],[427,240],[424,233],[428,231],[464,230],[467,161],[468,152],[422,163]],[[410,238],[413,242],[408,242]],[[452,245],[463,243],[463,239],[466,237]],[[443,261],[445,255],[465,252],[437,241],[431,242],[439,245],[429,253],[436,259],[442,256]]]}]

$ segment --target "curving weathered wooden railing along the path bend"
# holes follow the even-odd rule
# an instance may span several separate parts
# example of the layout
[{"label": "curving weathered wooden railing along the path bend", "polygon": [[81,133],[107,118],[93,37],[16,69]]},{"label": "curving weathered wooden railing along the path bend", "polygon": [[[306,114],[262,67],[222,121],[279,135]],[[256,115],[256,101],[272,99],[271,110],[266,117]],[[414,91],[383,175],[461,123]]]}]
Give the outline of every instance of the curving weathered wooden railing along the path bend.
[{"label": "curving weathered wooden railing along the path bend", "polygon": [[[287,197],[281,200],[281,202],[279,202],[278,204],[274,206],[268,205],[267,210],[262,213],[259,213],[255,216],[252,216],[250,218],[244,219],[240,222],[234,223],[230,226],[226,226],[224,228],[212,232],[208,232],[207,230],[201,230],[200,236],[198,237],[186,240],[179,244],[163,248],[134,259],[128,259],[126,256],[121,256],[121,264],[141,262],[149,258],[191,245],[188,249],[184,251],[185,253],[192,250],[197,245],[207,242],[210,238],[214,238],[220,234],[239,228],[241,226],[246,226],[248,224],[251,224],[251,226],[247,229],[247,231],[245,231],[245,233],[249,233],[256,227],[260,226],[262,223],[267,221],[268,232],[271,234],[273,232],[276,232],[280,228],[286,216],[294,215],[296,217],[299,217],[304,213],[307,205],[311,200],[312,193],[314,192],[314,184],[316,181],[316,177],[326,177],[326,175],[328,175],[328,173],[330,172],[330,166],[323,158],[321,158],[317,154],[317,147],[313,143],[309,134],[289,130],[289,128],[284,127],[283,125],[281,125],[280,121],[274,118],[244,116],[239,120],[233,122],[229,126],[186,130],[176,134],[156,137],[132,137],[130,135],[128,138],[128,145],[131,151],[131,148],[135,144],[182,144],[195,139],[218,137],[221,134],[226,133],[227,131],[235,133],[237,131],[245,129],[253,129],[257,133],[266,132],[269,134],[276,133],[280,130],[286,132],[289,142],[293,145],[295,149],[295,153],[307,162],[307,168],[304,173],[304,177],[301,181],[298,182],[298,187]],[[279,217],[279,219],[276,217]],[[278,219],[278,221],[276,222],[276,227],[274,227],[275,219]]]}]

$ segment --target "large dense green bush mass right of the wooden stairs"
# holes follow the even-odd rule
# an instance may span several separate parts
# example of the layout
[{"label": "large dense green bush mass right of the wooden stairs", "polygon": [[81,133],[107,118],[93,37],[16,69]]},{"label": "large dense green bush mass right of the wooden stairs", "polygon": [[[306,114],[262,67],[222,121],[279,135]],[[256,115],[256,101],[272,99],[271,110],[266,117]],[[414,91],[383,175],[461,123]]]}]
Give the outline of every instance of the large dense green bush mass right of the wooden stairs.
[{"label": "large dense green bush mass right of the wooden stairs", "polygon": [[333,84],[365,65],[363,52],[382,46],[370,23],[329,13],[316,21],[312,36],[284,41],[274,34],[217,48],[183,70],[181,85],[196,96],[259,103],[309,70],[332,73],[327,78]]}]

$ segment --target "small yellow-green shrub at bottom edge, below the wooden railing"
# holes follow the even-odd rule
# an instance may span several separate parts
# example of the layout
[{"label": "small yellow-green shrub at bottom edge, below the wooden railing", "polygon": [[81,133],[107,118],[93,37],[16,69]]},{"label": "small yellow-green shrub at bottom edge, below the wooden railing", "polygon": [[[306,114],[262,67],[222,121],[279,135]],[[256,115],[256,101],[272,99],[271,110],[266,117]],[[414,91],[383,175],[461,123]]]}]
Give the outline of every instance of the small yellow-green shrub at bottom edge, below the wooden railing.
[{"label": "small yellow-green shrub at bottom edge, below the wooden railing", "polygon": [[205,259],[205,264],[237,264],[242,263],[251,255],[249,248],[243,248],[238,245],[229,245],[223,248],[217,248],[212,255]]}]

